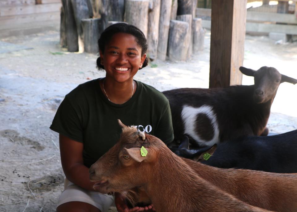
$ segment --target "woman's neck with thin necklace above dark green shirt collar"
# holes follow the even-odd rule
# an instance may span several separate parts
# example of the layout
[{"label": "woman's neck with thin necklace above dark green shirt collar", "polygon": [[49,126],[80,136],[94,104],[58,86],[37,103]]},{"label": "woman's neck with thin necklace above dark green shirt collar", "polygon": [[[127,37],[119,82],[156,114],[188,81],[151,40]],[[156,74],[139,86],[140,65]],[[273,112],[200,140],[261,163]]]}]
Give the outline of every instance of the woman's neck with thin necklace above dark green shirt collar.
[{"label": "woman's neck with thin necklace above dark green shirt collar", "polygon": [[112,103],[123,104],[131,99],[136,91],[136,82],[133,78],[124,83],[118,83],[108,78],[100,81],[100,87],[105,97]]}]

